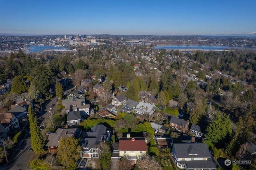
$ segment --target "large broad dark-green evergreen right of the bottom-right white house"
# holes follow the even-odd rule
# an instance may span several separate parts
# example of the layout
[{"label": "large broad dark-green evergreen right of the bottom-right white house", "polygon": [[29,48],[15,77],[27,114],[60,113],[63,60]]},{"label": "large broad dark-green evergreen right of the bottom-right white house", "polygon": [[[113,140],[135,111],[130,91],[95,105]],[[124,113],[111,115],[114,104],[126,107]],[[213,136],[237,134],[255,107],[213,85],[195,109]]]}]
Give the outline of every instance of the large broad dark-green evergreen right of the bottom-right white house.
[{"label": "large broad dark-green evergreen right of the bottom-right white house", "polygon": [[218,143],[224,140],[228,135],[231,134],[232,122],[229,119],[229,115],[218,111],[216,118],[210,122],[209,126],[206,128],[205,137],[207,140]]}]

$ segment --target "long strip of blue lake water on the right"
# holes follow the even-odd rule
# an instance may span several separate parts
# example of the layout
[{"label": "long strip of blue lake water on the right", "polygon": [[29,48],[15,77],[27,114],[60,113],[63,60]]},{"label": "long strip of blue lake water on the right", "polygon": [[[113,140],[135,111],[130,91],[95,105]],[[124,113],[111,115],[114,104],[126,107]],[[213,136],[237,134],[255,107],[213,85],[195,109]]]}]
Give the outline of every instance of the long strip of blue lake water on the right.
[{"label": "long strip of blue lake water on the right", "polygon": [[249,47],[229,47],[222,45],[162,45],[156,46],[156,49],[200,49],[200,50],[223,50],[223,49],[256,49]]}]

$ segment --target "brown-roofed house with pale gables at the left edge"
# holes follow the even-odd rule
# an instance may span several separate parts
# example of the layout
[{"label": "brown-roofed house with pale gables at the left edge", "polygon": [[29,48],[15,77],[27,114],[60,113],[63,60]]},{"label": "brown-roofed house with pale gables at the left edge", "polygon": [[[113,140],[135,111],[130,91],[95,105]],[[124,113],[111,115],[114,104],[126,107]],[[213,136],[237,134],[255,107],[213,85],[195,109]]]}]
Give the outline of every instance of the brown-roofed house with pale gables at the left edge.
[{"label": "brown-roofed house with pale gables at the left edge", "polygon": [[0,124],[6,132],[20,128],[18,119],[12,113],[0,113]]}]

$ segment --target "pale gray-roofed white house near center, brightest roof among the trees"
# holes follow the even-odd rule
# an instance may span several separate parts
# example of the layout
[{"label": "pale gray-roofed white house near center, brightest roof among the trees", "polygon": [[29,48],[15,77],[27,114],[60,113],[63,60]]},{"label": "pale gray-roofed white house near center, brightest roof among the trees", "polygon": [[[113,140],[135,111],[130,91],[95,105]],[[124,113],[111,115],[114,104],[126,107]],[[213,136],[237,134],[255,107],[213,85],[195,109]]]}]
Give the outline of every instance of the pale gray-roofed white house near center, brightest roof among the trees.
[{"label": "pale gray-roofed white house near center, brightest roof among the trees", "polygon": [[140,102],[136,106],[135,114],[136,115],[144,115],[144,114],[146,114],[146,115],[152,116],[155,110],[156,110],[156,106],[155,105],[151,105],[150,103]]}]

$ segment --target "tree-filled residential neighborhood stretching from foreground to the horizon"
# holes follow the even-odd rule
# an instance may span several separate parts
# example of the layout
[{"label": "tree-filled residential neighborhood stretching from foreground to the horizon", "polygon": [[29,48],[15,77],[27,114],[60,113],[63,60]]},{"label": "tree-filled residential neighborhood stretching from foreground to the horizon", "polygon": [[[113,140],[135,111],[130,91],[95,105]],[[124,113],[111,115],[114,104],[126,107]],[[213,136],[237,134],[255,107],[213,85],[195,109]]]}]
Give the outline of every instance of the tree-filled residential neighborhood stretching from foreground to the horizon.
[{"label": "tree-filled residential neighborhood stretching from foreground to the horizon", "polygon": [[[26,47],[50,43],[32,38]],[[229,41],[198,36],[54,39],[70,49],[0,51],[1,167],[24,150],[31,169],[256,168],[255,50],[160,48]]]}]

